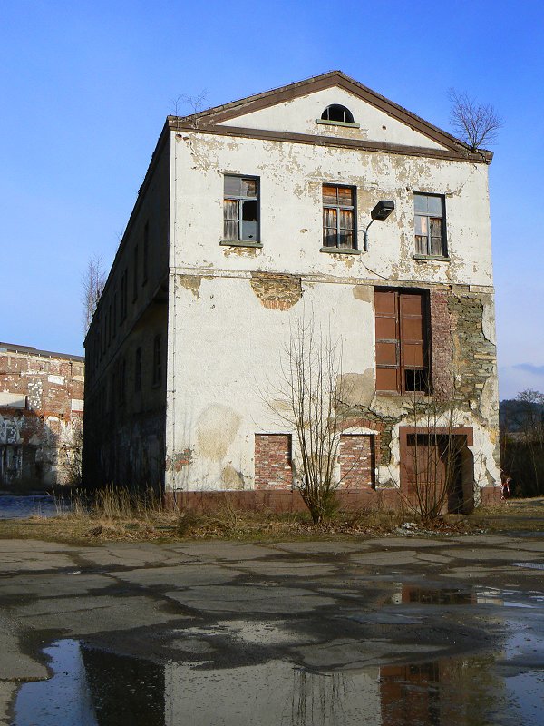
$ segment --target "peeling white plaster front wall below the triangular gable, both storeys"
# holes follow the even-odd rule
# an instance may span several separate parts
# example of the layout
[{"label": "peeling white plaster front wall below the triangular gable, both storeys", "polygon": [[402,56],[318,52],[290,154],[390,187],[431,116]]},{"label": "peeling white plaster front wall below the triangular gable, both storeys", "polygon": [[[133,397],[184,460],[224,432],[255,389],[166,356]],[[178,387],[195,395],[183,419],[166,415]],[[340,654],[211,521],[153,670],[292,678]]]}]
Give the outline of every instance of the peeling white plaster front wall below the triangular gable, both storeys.
[{"label": "peeling white plaster front wall below the triangular gable, both storeys", "polygon": [[[487,166],[187,131],[172,132],[171,145],[167,489],[253,488],[255,434],[290,433],[263,398],[277,386],[290,322],[311,314],[342,338],[347,414],[382,434],[377,485],[399,486],[398,429],[414,421],[405,397],[375,395],[374,286],[387,285],[442,295],[451,336],[436,376],[448,361],[458,369],[455,426],[473,428],[475,486],[498,482]],[[262,249],[220,245],[226,173],[260,178]],[[395,201],[367,253],[319,251],[324,182],[356,185],[359,230],[376,201]],[[413,259],[414,191],[445,195],[450,261]]]}]

